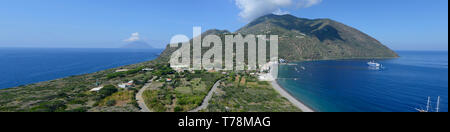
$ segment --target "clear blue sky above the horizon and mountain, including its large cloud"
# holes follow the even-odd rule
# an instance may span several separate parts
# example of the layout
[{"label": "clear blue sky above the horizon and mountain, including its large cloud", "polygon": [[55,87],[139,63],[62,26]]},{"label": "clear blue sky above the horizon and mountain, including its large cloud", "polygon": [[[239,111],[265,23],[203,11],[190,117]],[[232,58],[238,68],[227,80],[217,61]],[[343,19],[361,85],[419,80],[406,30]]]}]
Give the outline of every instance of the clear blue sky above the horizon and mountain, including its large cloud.
[{"label": "clear blue sky above the horizon and mountain, including its large cloud", "polygon": [[0,0],[0,47],[164,48],[193,26],[233,32],[269,13],[330,18],[394,50],[448,50],[448,0]]}]

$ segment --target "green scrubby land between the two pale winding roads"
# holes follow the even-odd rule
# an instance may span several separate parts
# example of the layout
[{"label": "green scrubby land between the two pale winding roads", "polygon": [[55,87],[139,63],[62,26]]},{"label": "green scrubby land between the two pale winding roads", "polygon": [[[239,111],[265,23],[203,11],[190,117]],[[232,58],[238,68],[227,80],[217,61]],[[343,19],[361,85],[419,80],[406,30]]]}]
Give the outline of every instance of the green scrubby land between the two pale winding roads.
[{"label": "green scrubby land between the two pale winding roads", "polygon": [[147,106],[156,112],[186,112],[200,106],[214,83],[222,77],[219,73],[196,71],[169,74],[158,89],[147,90],[143,97]]}]

